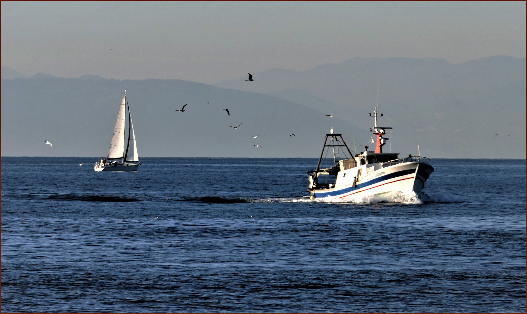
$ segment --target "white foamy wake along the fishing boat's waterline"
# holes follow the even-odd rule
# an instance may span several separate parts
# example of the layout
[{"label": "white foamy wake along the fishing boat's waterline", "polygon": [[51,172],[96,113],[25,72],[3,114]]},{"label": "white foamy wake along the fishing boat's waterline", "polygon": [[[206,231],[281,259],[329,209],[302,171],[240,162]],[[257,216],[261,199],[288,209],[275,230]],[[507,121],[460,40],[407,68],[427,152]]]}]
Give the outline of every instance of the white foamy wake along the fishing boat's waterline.
[{"label": "white foamy wake along the fishing boat's waterline", "polygon": [[467,202],[457,197],[449,197],[444,194],[432,194],[428,195],[422,192],[416,193],[411,192],[409,194],[401,192],[388,192],[376,195],[366,196],[349,196],[344,198],[317,198],[310,200],[309,197],[302,198],[283,198],[283,199],[266,199],[262,201],[267,202],[322,202],[322,203],[357,203],[357,204],[374,204],[374,203],[400,203],[400,204],[427,204],[427,203],[463,203]]}]

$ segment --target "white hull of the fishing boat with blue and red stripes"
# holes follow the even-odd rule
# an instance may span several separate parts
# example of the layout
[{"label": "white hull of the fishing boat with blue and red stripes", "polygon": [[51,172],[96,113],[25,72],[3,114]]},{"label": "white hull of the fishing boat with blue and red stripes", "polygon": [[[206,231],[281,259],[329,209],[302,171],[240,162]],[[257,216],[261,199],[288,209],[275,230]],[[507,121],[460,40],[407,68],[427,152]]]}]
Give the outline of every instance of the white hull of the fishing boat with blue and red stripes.
[{"label": "white hull of the fishing boat with blue and red stripes", "polygon": [[[358,180],[355,179],[359,174]],[[310,189],[311,199],[315,198],[363,198],[384,193],[421,192],[434,168],[426,161],[412,161],[395,165],[363,165],[340,171],[335,187]],[[310,180],[312,181],[312,180]],[[312,186],[312,185],[311,185]]]}]

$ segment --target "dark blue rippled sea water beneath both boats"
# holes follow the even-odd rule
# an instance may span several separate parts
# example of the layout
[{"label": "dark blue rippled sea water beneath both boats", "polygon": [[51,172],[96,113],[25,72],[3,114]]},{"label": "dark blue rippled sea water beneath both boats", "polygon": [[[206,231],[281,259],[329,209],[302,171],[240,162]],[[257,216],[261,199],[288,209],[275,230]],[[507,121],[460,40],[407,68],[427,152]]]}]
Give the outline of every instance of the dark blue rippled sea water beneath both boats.
[{"label": "dark blue rippled sea water beneath both boats", "polygon": [[309,201],[315,159],[95,160],[2,158],[3,312],[525,311],[525,160],[432,160],[432,203]]}]

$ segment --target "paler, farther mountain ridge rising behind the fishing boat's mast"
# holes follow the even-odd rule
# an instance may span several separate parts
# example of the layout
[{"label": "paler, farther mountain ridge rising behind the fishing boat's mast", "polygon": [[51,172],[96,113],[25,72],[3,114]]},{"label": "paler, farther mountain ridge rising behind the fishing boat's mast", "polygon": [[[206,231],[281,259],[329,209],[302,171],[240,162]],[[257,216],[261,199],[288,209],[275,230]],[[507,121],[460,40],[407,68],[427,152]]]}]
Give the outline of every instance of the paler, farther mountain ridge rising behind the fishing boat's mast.
[{"label": "paler, farther mountain ridge rising behind the fishing boat's mast", "polygon": [[421,145],[422,154],[435,157],[525,158],[525,58],[492,56],[460,64],[352,58],[309,71],[252,74],[255,82],[239,77],[214,85],[337,111],[364,133],[373,126],[368,113],[377,103],[378,83],[380,123],[394,127],[397,151],[416,153]]}]

